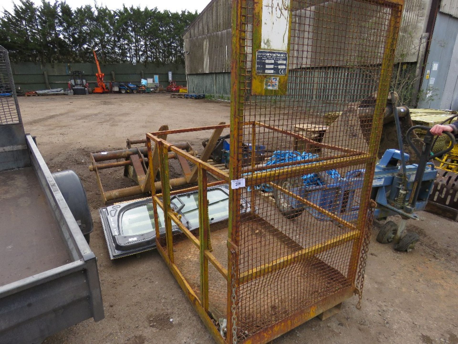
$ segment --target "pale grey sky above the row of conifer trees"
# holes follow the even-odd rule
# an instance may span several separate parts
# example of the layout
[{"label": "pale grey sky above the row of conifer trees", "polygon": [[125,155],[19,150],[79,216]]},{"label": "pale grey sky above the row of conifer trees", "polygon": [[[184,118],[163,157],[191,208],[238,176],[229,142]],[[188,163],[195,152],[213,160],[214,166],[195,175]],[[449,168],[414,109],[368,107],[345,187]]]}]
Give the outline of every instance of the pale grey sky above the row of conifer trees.
[{"label": "pale grey sky above the row of conifer trees", "polygon": [[[33,0],[35,4],[40,4],[41,0]],[[49,2],[53,3],[54,0],[50,0]],[[72,8],[80,7],[84,5],[94,5],[94,0],[67,0],[67,4],[69,4]],[[205,6],[210,2],[210,0],[150,0],[150,1],[141,1],[141,0],[98,0],[98,5],[106,5],[109,9],[114,10],[117,8],[121,8],[123,4],[125,6],[130,7],[133,6],[140,6],[141,8],[148,7],[154,8],[157,7],[158,10],[164,11],[169,10],[172,12],[175,11],[182,11],[188,10],[190,12],[194,12],[197,10],[197,13],[200,13]],[[11,11],[13,9],[13,3],[18,4],[19,0],[4,0],[0,1],[0,11],[3,12],[3,9],[7,11]]]}]

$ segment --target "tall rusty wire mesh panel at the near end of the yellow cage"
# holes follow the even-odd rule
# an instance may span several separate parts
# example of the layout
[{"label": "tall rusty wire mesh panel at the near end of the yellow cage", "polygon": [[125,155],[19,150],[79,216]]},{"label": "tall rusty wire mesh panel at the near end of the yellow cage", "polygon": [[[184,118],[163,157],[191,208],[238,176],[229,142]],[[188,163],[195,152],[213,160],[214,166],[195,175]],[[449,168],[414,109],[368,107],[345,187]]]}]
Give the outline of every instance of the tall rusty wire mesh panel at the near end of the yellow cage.
[{"label": "tall rusty wire mesh panel at the near end of the yellow cage", "polygon": [[[241,3],[232,167],[256,186],[234,191],[254,209],[233,229],[238,339],[355,287],[401,10],[292,1],[287,92],[260,96],[251,89],[255,5]],[[308,203],[288,207],[282,190]]]}]

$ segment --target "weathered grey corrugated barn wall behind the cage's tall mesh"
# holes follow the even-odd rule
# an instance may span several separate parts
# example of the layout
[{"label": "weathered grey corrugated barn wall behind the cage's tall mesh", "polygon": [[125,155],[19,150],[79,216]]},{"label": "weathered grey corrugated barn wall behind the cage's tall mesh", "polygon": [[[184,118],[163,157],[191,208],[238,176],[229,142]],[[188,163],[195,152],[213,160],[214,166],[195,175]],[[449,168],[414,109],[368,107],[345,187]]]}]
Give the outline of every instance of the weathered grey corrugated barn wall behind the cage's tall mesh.
[{"label": "weathered grey corrugated barn wall behind the cage's tall mesh", "polygon": [[[443,0],[452,1],[452,0]],[[311,0],[308,2],[308,9],[301,11],[310,12],[311,7],[315,4],[322,4],[322,0]],[[456,1],[454,1],[456,2]],[[399,33],[398,45],[396,50],[397,62],[403,62],[401,69],[396,69],[393,73],[393,86],[402,86],[403,99],[408,103],[410,94],[412,93],[413,81],[410,79],[414,74],[415,62],[418,58],[418,49],[420,37],[423,33],[425,22],[428,19],[428,11],[431,5],[431,0],[405,0],[404,11]],[[353,17],[340,16],[340,2],[329,3],[326,6],[313,11],[313,16],[308,15],[308,20],[298,20],[295,13],[292,18],[292,30],[305,32],[303,26],[313,26],[313,22],[319,17],[328,18],[332,15],[330,27],[326,32],[311,30],[311,34],[307,37],[292,33],[291,45],[292,51],[296,44],[311,44],[313,40],[326,41],[327,35],[338,33],[339,30],[345,29],[352,21],[358,20],[358,16],[365,16],[365,11],[352,14]],[[373,5],[366,4],[370,7]],[[185,32],[183,38],[185,40],[185,69],[187,74],[188,89],[193,93],[213,94],[216,98],[221,96],[228,97],[230,94],[230,56],[231,56],[231,29],[230,29],[230,0],[213,0],[202,11],[199,17],[191,24],[190,28]],[[383,17],[387,13],[381,13],[381,17],[372,18],[371,24],[377,27]],[[301,18],[303,18],[302,16]],[[329,20],[329,19],[327,19]],[[248,24],[250,25],[250,24]],[[368,26],[360,33],[355,33],[354,39],[365,39],[371,37],[371,29]],[[248,30],[251,31],[251,30]],[[251,39],[251,37],[248,37]],[[382,41],[382,40],[381,40]],[[309,53],[306,56],[290,56],[289,63],[289,83],[295,83],[297,80],[310,78],[311,82],[319,79],[320,89],[306,87],[294,87],[294,98],[302,98],[310,101],[330,101],[330,102],[348,102],[356,101],[350,99],[348,94],[367,94],[371,95],[375,90],[364,89],[367,84],[370,84],[370,78],[378,77],[365,72],[362,64],[377,64],[379,56],[382,55],[383,46],[379,47],[379,54],[365,56],[365,61],[360,61],[360,57],[355,57],[357,63],[345,60],[341,61],[339,66],[326,66],[329,55],[336,54],[345,46],[342,42],[340,46],[327,46],[321,44],[319,52]],[[374,50],[374,49],[373,49]],[[247,61],[251,61],[251,51],[247,52]],[[333,61],[338,61],[338,58],[333,58]],[[316,67],[320,66],[320,67]],[[407,69],[406,69],[407,68]],[[412,75],[411,75],[412,74]],[[398,78],[396,78],[398,76]],[[409,79],[409,83],[405,83]],[[396,82],[397,81],[397,82]],[[360,92],[350,92],[342,85],[353,85],[353,88],[359,88]],[[408,88],[409,86],[410,88]],[[354,89],[353,89],[354,90]]]}]

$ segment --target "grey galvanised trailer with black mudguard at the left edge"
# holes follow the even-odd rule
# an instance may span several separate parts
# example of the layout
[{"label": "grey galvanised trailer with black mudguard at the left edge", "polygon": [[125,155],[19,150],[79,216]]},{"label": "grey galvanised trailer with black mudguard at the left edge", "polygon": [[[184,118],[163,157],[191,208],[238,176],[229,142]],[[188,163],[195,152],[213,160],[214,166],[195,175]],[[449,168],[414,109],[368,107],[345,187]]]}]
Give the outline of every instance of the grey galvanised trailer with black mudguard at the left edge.
[{"label": "grey galvanised trailer with black mudguard at the left edge", "polygon": [[24,133],[8,53],[0,46],[2,344],[41,343],[85,319],[104,318],[97,260],[83,235],[92,220],[76,218],[69,207],[72,198],[87,207],[84,190],[74,172],[60,173],[59,188]]}]

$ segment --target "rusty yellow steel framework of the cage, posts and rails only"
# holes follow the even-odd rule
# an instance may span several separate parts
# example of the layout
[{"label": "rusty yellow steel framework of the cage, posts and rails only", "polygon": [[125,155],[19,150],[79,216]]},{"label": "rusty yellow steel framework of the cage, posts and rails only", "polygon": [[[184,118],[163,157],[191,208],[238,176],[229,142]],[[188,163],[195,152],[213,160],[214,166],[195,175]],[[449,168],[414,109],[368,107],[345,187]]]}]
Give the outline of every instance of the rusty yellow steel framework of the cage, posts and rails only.
[{"label": "rusty yellow steel framework of the cage, posts and rails only", "polygon": [[[153,174],[150,174],[151,186],[152,186],[152,199],[153,199],[153,208],[154,216],[156,223],[156,233],[157,233],[157,249],[159,254],[163,257],[167,266],[173,273],[177,282],[179,283],[181,289],[185,292],[185,295],[191,301],[194,309],[197,314],[200,316],[211,335],[217,343],[233,343],[233,323],[231,321],[233,314],[233,309],[231,307],[231,300],[234,297],[235,300],[238,300],[238,287],[244,283],[248,283],[256,278],[265,276],[267,274],[278,271],[285,266],[294,264],[295,262],[304,259],[306,257],[312,257],[318,255],[326,250],[331,250],[337,247],[340,244],[347,242],[352,242],[353,249],[351,253],[351,258],[349,261],[348,272],[349,275],[346,277],[351,281],[351,286],[344,289],[340,289],[338,292],[319,300],[318,302],[304,307],[300,311],[295,312],[294,314],[276,322],[273,325],[270,325],[266,328],[263,328],[259,332],[252,334],[250,337],[242,340],[241,343],[245,344],[254,344],[254,343],[268,343],[274,338],[288,332],[294,327],[299,326],[300,324],[310,320],[311,318],[320,315],[327,310],[340,305],[342,301],[351,297],[355,291],[357,291],[357,286],[355,284],[355,274],[357,271],[358,259],[361,252],[361,246],[363,242],[362,233],[366,224],[367,211],[369,207],[369,197],[370,190],[372,185],[372,178],[375,170],[376,154],[378,150],[378,142],[380,140],[381,128],[382,128],[382,117],[383,111],[385,108],[386,95],[388,93],[389,82],[391,79],[393,65],[393,54],[394,48],[396,46],[396,40],[398,35],[399,28],[399,18],[398,15],[403,6],[402,0],[379,0],[379,1],[365,1],[357,0],[365,3],[376,3],[382,6],[386,6],[391,9],[389,27],[387,30],[387,44],[385,45],[385,50],[383,51],[382,56],[382,67],[381,75],[379,79],[378,86],[378,96],[376,99],[375,112],[373,118],[373,125],[371,128],[371,135],[369,138],[368,146],[369,151],[363,152],[359,150],[352,150],[344,147],[339,147],[336,145],[317,143],[311,139],[306,138],[303,135],[293,133],[281,128],[275,128],[273,126],[267,125],[262,122],[244,122],[244,96],[245,96],[245,78],[247,75],[244,73],[245,66],[240,60],[240,55],[245,54],[244,47],[240,44],[244,32],[244,20],[242,17],[246,18],[246,8],[242,6],[244,0],[234,0],[232,1],[232,59],[231,59],[231,123],[230,123],[230,144],[231,150],[230,155],[230,164],[229,164],[229,174],[219,170],[217,167],[208,164],[206,161],[202,161],[195,156],[181,150],[178,147],[175,147],[173,144],[170,144],[166,139],[161,138],[161,135],[169,135],[175,133],[190,133],[202,130],[216,130],[228,128],[229,125],[216,125],[216,126],[207,126],[199,128],[188,128],[188,129],[176,129],[176,130],[167,130],[167,131],[158,131],[153,133],[147,133],[147,148],[148,148],[148,163],[150,170],[153,170],[154,162],[158,163],[158,168],[160,169],[160,187],[162,193],[157,193],[158,189],[157,184],[154,183]],[[239,142],[239,138],[243,137],[243,130],[246,127],[251,127],[251,145],[253,147],[253,152],[251,155],[251,162],[249,167],[242,169],[241,164],[239,163],[242,159],[242,147]],[[316,158],[311,159],[310,161],[300,161],[296,163],[284,163],[273,165],[273,170],[265,171],[263,167],[256,166],[255,153],[256,153],[256,129],[263,128],[267,130],[273,130],[278,133],[291,136],[293,138],[298,138],[304,141],[312,141],[316,146],[327,148],[331,150],[338,151],[343,153],[335,157],[327,158]],[[219,135],[218,135],[219,136]],[[154,143],[154,151],[152,150],[152,143]],[[156,154],[155,150],[158,149],[158,154],[156,160],[153,156]],[[194,171],[197,171],[197,176],[195,180],[198,185],[196,187],[188,188],[186,190],[198,190],[199,193],[199,237],[197,238],[194,233],[191,233],[178,218],[177,214],[170,207],[170,196],[173,194],[170,191],[170,183],[172,180],[169,178],[169,167],[168,167],[168,154],[173,152],[177,158],[185,159],[195,164]],[[360,202],[360,211],[358,219],[355,222],[347,222],[340,216],[326,211],[325,209],[319,207],[318,205],[313,204],[312,202],[301,198],[300,196],[281,188],[278,184],[273,183],[273,181],[278,179],[290,178],[294,176],[301,176],[305,173],[325,171],[327,169],[336,169],[340,167],[347,166],[356,166],[363,164],[365,166],[365,175],[363,181],[363,192],[361,194]],[[208,183],[207,174],[210,173],[213,176],[221,179],[218,182]],[[246,186],[254,186],[260,183],[268,183],[270,186],[276,189],[280,189],[283,193],[288,194],[289,196],[300,200],[300,202],[305,205],[319,211],[320,213],[329,216],[334,221],[348,227],[350,232],[344,233],[342,235],[335,236],[331,239],[327,239],[319,244],[314,244],[310,247],[306,247],[302,250],[294,252],[289,255],[285,255],[274,261],[270,261],[266,264],[262,264],[255,268],[252,268],[248,271],[241,272],[239,271],[239,255],[240,255],[240,200],[241,193],[240,189],[229,189],[229,224],[228,224],[228,238],[227,238],[227,269],[221,264],[218,259],[208,250],[208,244],[211,241],[209,239],[209,228],[207,223],[207,187],[218,185],[220,183],[229,183],[230,180],[238,179],[244,174]],[[254,189],[254,188],[253,188]],[[256,192],[251,192],[251,202],[256,198]],[[165,246],[160,242],[161,238],[159,236],[158,228],[158,212],[157,207],[160,207],[164,211],[166,217],[165,221]],[[252,206],[254,208],[254,206]],[[252,215],[251,215],[252,216]],[[199,250],[199,261],[200,261],[200,297],[197,296],[196,291],[194,291],[191,285],[186,281],[185,276],[178,266],[174,263],[174,250],[173,250],[173,237],[172,237],[172,221],[175,225],[180,227],[182,232],[185,234],[185,239],[190,240],[191,243]],[[208,301],[208,262],[210,262],[216,270],[221,274],[222,277],[227,282],[227,312],[226,316],[228,319],[227,322],[227,335],[226,338],[223,338],[218,332],[217,327],[214,325],[213,321],[218,319],[213,319],[211,317],[211,312],[209,311],[209,301]]]}]

